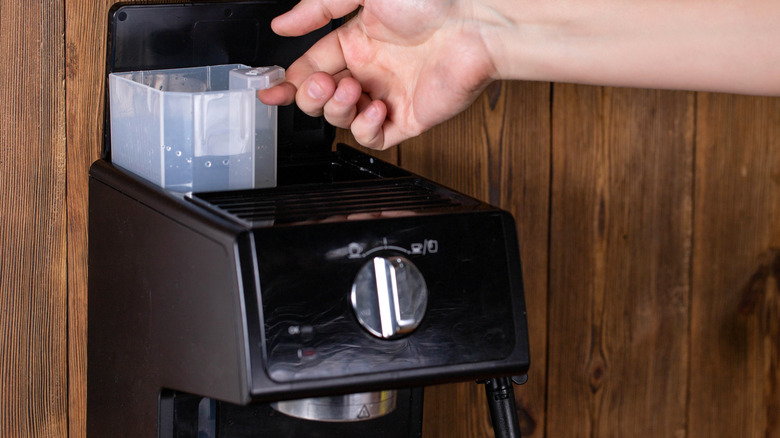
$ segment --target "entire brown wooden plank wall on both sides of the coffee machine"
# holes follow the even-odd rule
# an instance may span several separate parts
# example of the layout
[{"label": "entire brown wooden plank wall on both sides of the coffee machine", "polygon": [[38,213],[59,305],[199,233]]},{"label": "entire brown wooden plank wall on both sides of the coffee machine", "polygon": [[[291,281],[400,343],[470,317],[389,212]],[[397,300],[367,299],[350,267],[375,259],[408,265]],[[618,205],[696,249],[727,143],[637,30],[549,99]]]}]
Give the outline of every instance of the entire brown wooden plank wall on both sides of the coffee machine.
[{"label": "entire brown wooden plank wall on both sides of the coffee machine", "polygon": [[[84,436],[111,3],[0,0],[3,437]],[[500,82],[380,155],[515,215],[524,436],[780,437],[780,98]],[[425,436],[492,436],[482,388]]]}]

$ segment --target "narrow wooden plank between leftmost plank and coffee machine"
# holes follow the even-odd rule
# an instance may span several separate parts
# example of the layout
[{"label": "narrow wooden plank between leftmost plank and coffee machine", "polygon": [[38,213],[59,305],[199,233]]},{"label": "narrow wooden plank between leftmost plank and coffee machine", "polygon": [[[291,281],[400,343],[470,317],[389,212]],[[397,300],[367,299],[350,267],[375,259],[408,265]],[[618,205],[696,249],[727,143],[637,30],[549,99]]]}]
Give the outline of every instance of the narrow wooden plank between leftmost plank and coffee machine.
[{"label": "narrow wooden plank between leftmost plank and coffee machine", "polygon": [[112,1],[66,0],[69,437],[86,436],[89,166],[100,157]]}]

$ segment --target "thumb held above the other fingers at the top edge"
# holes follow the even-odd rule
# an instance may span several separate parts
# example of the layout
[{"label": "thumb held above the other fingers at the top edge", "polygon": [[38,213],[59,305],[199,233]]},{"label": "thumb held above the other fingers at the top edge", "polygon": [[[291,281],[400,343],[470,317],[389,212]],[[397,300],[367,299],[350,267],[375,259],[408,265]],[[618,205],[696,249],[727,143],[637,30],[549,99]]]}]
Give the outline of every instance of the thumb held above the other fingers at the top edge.
[{"label": "thumb held above the other fingers at the top edge", "polygon": [[357,9],[363,0],[301,0],[289,12],[276,17],[271,28],[281,36],[300,36]]}]

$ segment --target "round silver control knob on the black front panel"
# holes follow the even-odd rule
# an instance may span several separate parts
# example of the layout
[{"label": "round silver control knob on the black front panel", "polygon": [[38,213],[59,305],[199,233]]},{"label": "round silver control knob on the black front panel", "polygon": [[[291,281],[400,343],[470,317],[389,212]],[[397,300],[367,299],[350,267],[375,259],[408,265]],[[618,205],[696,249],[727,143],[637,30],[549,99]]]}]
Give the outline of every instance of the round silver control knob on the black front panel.
[{"label": "round silver control knob on the black front panel", "polygon": [[406,258],[374,257],[360,268],[350,298],[360,325],[374,336],[392,339],[420,325],[428,288],[420,270]]}]

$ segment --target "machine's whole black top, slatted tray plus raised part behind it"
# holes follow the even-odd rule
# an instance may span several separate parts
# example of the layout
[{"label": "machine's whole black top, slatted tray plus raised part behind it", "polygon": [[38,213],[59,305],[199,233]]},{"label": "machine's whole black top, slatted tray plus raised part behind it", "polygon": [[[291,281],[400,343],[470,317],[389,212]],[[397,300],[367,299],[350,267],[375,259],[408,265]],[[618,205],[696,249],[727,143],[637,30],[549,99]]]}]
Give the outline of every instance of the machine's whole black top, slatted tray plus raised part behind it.
[{"label": "machine's whole black top, slatted tray plus raised part behind it", "polygon": [[[345,156],[346,155],[346,156]],[[250,226],[402,217],[476,202],[355,150],[335,160],[279,169],[273,189],[195,193],[191,201]]]}]

